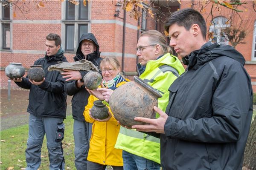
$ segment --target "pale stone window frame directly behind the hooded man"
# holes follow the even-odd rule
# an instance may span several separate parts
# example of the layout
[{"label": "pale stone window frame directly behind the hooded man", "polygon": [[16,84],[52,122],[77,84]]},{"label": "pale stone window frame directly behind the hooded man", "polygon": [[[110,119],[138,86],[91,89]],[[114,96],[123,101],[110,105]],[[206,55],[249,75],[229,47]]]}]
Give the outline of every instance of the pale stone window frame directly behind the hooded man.
[{"label": "pale stone window frame directly behind the hooded man", "polygon": [[[66,1],[65,3],[62,3],[61,5],[61,45],[63,48],[66,48],[66,24],[74,24],[74,51],[67,51],[70,53],[75,53],[76,49],[79,46],[79,24],[87,24],[87,32],[90,32],[91,29],[91,1],[87,1],[88,6],[88,20],[79,20],[79,5],[75,5],[75,20],[66,20]],[[83,3],[83,1],[79,1],[80,3]],[[70,3],[70,2],[69,2]],[[65,49],[66,50],[66,49]]]}]

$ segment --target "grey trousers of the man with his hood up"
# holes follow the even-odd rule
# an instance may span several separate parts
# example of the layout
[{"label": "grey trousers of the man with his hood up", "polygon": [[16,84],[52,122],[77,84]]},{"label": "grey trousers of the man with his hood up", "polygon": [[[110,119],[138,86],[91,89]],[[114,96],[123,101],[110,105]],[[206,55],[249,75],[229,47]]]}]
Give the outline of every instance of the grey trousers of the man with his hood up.
[{"label": "grey trousers of the man with his hood up", "polygon": [[74,120],[75,166],[76,170],[87,170],[87,156],[92,124],[86,121]]}]

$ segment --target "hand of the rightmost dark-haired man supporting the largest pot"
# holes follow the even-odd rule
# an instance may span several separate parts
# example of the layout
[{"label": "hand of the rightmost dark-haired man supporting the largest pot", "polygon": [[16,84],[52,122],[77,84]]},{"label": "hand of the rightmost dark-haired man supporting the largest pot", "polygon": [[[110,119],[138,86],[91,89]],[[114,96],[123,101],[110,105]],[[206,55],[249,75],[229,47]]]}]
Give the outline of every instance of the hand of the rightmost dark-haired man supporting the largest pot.
[{"label": "hand of the rightmost dark-haired man supporting the largest pot", "polygon": [[164,134],[164,125],[166,123],[166,120],[168,118],[168,115],[163,112],[158,107],[154,106],[154,110],[159,113],[160,117],[151,119],[151,118],[141,118],[137,117],[134,118],[135,121],[142,121],[147,124],[145,125],[134,125],[131,128],[136,129],[137,131],[142,132],[156,132],[156,133],[163,133]]}]

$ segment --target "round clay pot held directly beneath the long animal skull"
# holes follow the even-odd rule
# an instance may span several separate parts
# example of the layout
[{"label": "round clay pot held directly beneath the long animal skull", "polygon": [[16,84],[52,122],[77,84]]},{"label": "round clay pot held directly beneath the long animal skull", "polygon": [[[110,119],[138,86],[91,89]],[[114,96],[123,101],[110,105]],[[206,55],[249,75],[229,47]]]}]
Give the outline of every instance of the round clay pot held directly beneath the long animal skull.
[{"label": "round clay pot held directly beneath the long animal skull", "polygon": [[102,82],[102,75],[99,72],[90,71],[84,75],[84,86],[90,90],[97,89]]}]

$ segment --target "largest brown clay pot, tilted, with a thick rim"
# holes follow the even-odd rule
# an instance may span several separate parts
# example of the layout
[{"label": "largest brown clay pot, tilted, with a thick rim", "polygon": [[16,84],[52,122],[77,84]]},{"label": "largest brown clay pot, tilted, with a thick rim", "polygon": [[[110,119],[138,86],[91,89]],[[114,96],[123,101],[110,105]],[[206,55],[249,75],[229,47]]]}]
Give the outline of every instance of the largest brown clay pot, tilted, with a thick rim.
[{"label": "largest brown clay pot, tilted, with a thick rim", "polygon": [[109,106],[120,124],[131,127],[145,124],[134,121],[135,117],[155,118],[156,112],[153,107],[157,106],[157,99],[160,97],[162,95],[156,89],[134,76],[134,81],[123,84],[113,91]]}]

